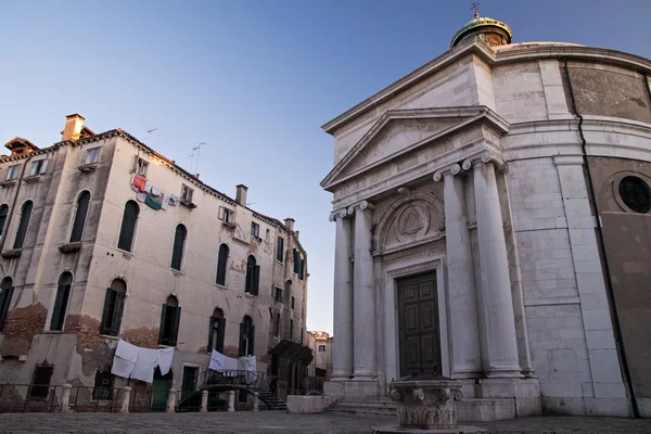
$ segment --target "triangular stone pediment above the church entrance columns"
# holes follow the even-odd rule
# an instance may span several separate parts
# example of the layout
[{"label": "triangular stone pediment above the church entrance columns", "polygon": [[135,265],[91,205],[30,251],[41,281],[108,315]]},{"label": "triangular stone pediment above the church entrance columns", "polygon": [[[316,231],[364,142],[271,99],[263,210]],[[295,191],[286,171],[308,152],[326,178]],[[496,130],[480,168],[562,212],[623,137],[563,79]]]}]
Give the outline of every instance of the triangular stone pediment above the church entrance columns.
[{"label": "triangular stone pediment above the church entrance columns", "polygon": [[443,139],[478,122],[508,125],[485,106],[387,111],[321,181],[329,189],[420,145]]}]

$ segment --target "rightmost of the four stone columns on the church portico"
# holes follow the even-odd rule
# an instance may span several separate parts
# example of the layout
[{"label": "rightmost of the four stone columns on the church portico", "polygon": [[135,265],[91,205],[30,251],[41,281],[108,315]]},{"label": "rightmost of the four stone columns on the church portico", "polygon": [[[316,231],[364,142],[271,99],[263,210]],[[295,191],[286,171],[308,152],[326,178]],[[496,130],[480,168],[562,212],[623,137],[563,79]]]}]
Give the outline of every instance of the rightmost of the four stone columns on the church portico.
[{"label": "rightmost of the four stone columns on the church portico", "polygon": [[[507,242],[499,205],[494,157],[485,152],[481,159],[463,162],[469,169],[474,163],[474,195],[482,273],[482,296],[487,354],[483,355],[488,378],[520,378],[515,318],[509,278]],[[499,163],[499,162],[498,162]]]}]

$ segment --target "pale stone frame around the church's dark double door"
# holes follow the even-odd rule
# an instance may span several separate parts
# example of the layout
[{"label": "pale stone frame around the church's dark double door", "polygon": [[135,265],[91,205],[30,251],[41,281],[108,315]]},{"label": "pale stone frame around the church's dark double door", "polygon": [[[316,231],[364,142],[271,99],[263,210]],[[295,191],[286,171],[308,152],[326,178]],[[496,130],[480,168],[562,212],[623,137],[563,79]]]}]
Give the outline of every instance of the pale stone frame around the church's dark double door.
[{"label": "pale stone frame around the church's dark double door", "polygon": [[450,374],[450,352],[447,326],[447,290],[445,286],[445,255],[427,258],[396,259],[384,268],[384,371],[386,383],[400,376],[400,348],[398,330],[398,279],[424,272],[436,272],[436,296],[438,302],[438,328],[441,333],[441,373]]}]

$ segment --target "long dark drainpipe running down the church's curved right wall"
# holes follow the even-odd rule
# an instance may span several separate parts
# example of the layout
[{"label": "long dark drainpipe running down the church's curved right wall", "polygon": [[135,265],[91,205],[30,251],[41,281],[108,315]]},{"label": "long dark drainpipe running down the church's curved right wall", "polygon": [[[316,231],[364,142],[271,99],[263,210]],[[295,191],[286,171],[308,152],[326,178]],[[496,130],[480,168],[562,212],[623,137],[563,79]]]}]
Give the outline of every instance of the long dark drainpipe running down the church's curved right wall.
[{"label": "long dark drainpipe running down the church's curved right wall", "polygon": [[[588,194],[590,196],[590,201],[592,202],[592,206],[595,208],[595,214],[597,215],[597,245],[599,246],[599,254],[601,255],[601,260],[603,263],[604,275],[605,275],[605,294],[608,296],[611,319],[613,323],[613,331],[615,334],[615,343],[617,347],[617,355],[620,356],[620,360],[622,362],[622,373],[624,374],[624,381],[626,383],[626,387],[628,388],[628,394],[630,395],[630,405],[633,408],[633,417],[639,418],[640,411],[637,405],[637,399],[635,397],[635,390],[633,387],[633,381],[630,379],[630,371],[628,370],[628,362],[626,361],[626,350],[624,349],[624,341],[622,340],[622,327],[620,323],[620,315],[617,312],[617,306],[615,302],[615,295],[613,291],[613,281],[611,279],[610,265],[608,261],[608,256],[605,254],[605,244],[603,242],[603,229],[601,228],[601,214],[599,213],[599,204],[597,203],[597,195],[595,194],[595,186],[592,184],[592,174],[590,171],[590,165],[588,164],[588,154],[586,152],[587,141],[583,131],[583,122],[584,118],[578,110],[576,110],[576,100],[574,99],[574,90],[572,89],[572,80],[570,79],[570,69],[567,69],[567,60],[563,59],[563,68],[565,72],[565,78],[567,80],[567,88],[570,90],[570,97],[572,99],[572,110],[576,114],[578,118],[578,135],[580,136],[580,150],[584,166],[586,167],[587,178],[588,178]],[[647,85],[647,89],[650,92],[649,85]]]}]

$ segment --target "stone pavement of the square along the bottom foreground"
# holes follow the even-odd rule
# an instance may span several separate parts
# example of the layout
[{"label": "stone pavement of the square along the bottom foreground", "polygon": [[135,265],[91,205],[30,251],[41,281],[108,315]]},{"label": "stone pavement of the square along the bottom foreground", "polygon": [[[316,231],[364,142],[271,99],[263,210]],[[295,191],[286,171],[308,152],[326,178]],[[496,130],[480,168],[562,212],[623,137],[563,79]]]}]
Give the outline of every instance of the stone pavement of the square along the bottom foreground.
[{"label": "stone pavement of the square along the bottom foreground", "polygon": [[[210,413],[13,413],[0,414],[0,433],[350,433],[370,434],[394,418],[281,411]],[[494,434],[651,433],[651,420],[542,417],[481,422]]]}]

